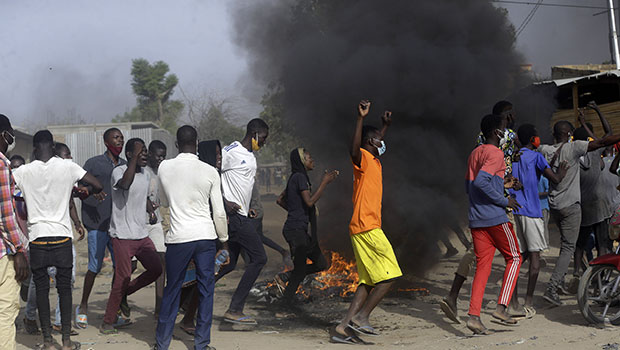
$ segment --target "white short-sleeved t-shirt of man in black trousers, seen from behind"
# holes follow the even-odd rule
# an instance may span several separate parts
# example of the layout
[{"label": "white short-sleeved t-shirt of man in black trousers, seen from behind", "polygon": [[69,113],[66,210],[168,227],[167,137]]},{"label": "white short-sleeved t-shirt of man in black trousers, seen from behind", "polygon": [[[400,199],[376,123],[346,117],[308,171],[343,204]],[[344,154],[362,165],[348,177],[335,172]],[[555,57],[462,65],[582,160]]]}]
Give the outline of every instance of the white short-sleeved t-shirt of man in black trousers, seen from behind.
[{"label": "white short-sleeved t-shirt of man in black trousers, seen from behind", "polygon": [[70,159],[52,157],[35,160],[13,171],[28,210],[28,238],[70,237],[73,239],[69,200],[76,182],[86,170]]}]

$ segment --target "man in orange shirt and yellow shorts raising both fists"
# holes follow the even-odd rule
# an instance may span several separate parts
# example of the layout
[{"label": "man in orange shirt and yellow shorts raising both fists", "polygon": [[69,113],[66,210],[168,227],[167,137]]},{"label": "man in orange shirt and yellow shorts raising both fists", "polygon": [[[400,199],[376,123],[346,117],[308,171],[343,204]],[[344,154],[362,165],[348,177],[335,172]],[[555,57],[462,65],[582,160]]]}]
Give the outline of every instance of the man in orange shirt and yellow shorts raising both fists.
[{"label": "man in orange shirt and yellow shorts raising both fists", "polygon": [[394,280],[402,276],[392,245],[381,230],[383,175],[379,156],[385,152],[383,137],[392,123],[392,112],[382,117],[381,130],[365,125],[369,101],[358,105],[357,123],[351,144],[353,162],[353,217],[349,225],[355,253],[359,286],[345,318],[331,334],[331,341],[355,344],[361,340],[353,333],[376,336],[379,333],[368,320],[372,310],[387,294]]}]

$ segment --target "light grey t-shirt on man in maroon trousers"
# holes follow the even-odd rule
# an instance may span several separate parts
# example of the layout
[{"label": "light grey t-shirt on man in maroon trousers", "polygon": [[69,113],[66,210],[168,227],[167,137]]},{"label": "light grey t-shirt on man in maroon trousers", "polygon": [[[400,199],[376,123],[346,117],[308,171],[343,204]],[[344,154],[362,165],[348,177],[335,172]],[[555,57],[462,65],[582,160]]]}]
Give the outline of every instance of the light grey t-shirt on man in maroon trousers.
[{"label": "light grey t-shirt on man in maroon trousers", "polygon": [[123,177],[127,165],[112,170],[112,219],[110,236],[119,239],[142,239],[148,237],[146,229],[146,199],[149,191],[150,175],[142,169],[136,173],[129,190],[116,187]]}]

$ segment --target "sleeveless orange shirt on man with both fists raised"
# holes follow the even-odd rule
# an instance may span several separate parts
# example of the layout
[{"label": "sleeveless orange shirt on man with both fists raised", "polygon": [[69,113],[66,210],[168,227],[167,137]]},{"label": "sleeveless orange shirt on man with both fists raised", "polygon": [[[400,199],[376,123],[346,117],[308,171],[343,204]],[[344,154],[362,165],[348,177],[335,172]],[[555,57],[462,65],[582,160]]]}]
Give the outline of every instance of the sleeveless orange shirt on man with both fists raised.
[{"label": "sleeveless orange shirt on man with both fists raised", "polygon": [[349,224],[352,235],[381,228],[381,162],[367,150],[361,151],[360,166],[353,164],[353,217]]}]

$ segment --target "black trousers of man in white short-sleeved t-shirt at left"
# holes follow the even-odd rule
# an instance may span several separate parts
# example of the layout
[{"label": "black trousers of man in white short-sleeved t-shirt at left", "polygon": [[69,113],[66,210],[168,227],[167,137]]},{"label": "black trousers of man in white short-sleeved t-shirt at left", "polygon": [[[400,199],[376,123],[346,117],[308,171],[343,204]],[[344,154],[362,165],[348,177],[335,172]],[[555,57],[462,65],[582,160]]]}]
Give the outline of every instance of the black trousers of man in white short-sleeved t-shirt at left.
[{"label": "black trousers of man in white short-sleeved t-shirt at left", "polygon": [[30,269],[37,288],[37,309],[43,340],[52,340],[52,323],[50,321],[50,280],[47,268],[56,267],[56,289],[60,296],[60,322],[62,325],[62,339],[68,340],[71,335],[71,269],[73,268],[73,253],[71,239],[59,244],[37,244],[57,242],[66,237],[44,237],[30,244]]}]

